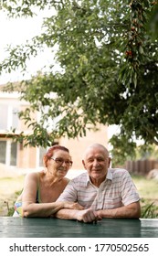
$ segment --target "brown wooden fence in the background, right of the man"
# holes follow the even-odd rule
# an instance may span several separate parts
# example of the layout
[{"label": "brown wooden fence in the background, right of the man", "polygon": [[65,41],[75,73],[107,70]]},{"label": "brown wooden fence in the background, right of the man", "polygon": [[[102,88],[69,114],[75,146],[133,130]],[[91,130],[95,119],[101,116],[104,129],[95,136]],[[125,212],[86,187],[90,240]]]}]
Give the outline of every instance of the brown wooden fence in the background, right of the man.
[{"label": "brown wooden fence in the background, right of the man", "polygon": [[126,161],[124,167],[132,173],[147,175],[151,170],[158,169],[158,161],[148,159],[138,161]]}]

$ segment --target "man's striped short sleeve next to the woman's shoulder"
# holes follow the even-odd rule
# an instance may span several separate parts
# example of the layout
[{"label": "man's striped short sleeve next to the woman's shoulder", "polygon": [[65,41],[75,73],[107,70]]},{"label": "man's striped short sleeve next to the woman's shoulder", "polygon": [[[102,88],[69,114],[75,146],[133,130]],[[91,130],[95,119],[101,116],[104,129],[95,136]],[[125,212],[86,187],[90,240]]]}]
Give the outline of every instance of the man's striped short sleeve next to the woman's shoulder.
[{"label": "man's striped short sleeve next to the woman's shoulder", "polygon": [[61,195],[58,197],[57,201],[77,202],[77,198],[77,187],[76,185],[74,186],[74,182],[71,180]]}]

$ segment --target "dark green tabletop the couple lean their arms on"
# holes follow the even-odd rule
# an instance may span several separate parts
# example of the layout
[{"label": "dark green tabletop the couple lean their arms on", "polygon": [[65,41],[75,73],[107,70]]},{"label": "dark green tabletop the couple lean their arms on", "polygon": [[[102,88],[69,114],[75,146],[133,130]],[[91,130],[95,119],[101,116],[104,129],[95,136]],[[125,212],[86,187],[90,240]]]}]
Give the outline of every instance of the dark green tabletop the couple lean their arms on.
[{"label": "dark green tabletop the couple lean their arms on", "polygon": [[1,217],[0,238],[158,238],[158,219],[102,219],[93,224]]}]

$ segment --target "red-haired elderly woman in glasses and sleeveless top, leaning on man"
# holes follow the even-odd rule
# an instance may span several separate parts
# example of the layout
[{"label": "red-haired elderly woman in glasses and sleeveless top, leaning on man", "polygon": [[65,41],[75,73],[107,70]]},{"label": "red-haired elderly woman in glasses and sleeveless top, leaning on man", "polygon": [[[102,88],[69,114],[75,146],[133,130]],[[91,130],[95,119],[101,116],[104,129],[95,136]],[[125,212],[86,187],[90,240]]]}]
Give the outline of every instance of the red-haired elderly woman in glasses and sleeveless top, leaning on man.
[{"label": "red-haired elderly woman in glasses and sleeveless top, leaning on man", "polygon": [[43,158],[46,170],[26,175],[24,189],[15,204],[15,216],[51,217],[61,208],[82,209],[78,203],[56,202],[68,185],[65,177],[72,165],[68,148],[50,147]]}]

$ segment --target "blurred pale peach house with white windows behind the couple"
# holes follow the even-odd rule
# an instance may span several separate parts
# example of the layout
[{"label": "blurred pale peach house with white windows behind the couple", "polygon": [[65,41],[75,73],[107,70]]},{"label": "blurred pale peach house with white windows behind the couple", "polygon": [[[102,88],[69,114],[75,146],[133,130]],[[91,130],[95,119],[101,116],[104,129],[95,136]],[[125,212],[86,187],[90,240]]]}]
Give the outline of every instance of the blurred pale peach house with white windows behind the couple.
[{"label": "blurred pale peach house with white windows behind the couple", "polygon": [[[14,135],[8,131],[16,128],[16,135],[21,133],[31,133],[25,123],[18,118],[18,112],[29,107],[26,101],[19,101],[19,94],[0,91],[0,164],[13,166],[20,169],[37,169],[43,166],[42,157],[47,149],[42,147],[32,147],[16,143],[13,140]],[[37,119],[37,116],[34,116]],[[52,144],[61,144],[68,147],[73,159],[73,169],[83,169],[81,164],[82,154],[85,148],[93,143],[108,145],[108,127],[99,125],[97,132],[89,132],[85,137],[78,139],[68,139],[61,137]],[[13,137],[12,137],[13,136]]]}]

